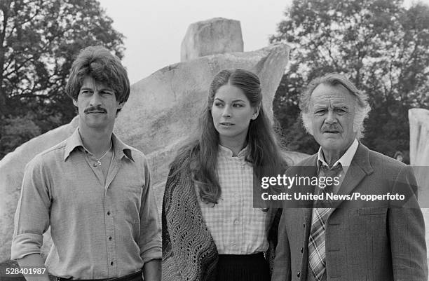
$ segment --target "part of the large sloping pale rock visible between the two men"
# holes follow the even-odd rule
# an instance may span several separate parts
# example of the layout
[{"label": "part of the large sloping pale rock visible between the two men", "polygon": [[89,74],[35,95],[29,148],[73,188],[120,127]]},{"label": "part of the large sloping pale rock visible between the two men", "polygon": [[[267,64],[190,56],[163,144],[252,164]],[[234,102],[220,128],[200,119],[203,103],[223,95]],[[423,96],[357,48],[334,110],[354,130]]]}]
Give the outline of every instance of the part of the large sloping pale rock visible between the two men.
[{"label": "part of the large sloping pale rock visible between the two men", "polygon": [[132,85],[133,93],[139,95],[132,95],[121,111],[116,132],[125,142],[147,153],[157,190],[163,189],[176,149],[196,128],[213,76],[228,68],[254,71],[261,78],[263,104],[272,118],[271,104],[288,51],[287,46],[276,45],[249,53],[200,57],[165,67]]}]

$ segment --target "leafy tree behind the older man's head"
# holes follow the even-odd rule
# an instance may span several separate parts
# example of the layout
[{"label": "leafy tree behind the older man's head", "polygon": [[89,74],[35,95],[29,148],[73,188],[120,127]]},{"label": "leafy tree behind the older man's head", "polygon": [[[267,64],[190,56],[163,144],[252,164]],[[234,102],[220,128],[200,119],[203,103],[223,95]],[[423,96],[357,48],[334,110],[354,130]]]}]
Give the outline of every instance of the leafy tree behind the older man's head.
[{"label": "leafy tree behind the older man's head", "polygon": [[299,121],[298,95],[311,79],[346,74],[370,95],[363,142],[393,154],[409,147],[408,109],[429,108],[429,7],[400,0],[294,0],[273,42],[292,46],[274,114],[290,148],[315,152]]}]

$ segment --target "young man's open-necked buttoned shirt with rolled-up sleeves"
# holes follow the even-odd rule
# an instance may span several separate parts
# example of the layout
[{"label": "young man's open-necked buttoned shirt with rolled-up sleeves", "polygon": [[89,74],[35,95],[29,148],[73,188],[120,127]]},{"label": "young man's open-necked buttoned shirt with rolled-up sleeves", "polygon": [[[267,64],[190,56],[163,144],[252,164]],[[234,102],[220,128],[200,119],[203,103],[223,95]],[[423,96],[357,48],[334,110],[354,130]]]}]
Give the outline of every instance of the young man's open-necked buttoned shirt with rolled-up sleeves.
[{"label": "young man's open-necked buttoned shirt with rolled-up sleeves", "polygon": [[25,169],[11,259],[40,253],[48,230],[50,274],[73,279],[121,277],[161,259],[161,226],[144,154],[112,135],[106,180],[76,130]]}]

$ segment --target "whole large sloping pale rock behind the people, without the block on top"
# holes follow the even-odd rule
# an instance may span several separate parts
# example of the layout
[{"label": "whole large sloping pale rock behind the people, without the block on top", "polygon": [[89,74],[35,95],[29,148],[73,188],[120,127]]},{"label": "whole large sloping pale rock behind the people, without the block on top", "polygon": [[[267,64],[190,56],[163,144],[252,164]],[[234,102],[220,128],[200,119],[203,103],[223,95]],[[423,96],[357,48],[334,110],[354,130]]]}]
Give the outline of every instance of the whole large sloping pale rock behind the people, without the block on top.
[{"label": "whole large sloping pale rock behind the people, without the block on top", "polygon": [[[132,85],[130,100],[118,115],[115,130],[124,142],[146,153],[159,211],[168,164],[177,147],[194,132],[214,74],[237,67],[254,71],[261,78],[264,107],[272,117],[271,104],[288,52],[289,47],[278,44],[249,53],[200,57],[165,67]],[[77,123],[76,117],[71,123],[22,144],[0,161],[0,261],[10,257],[13,214],[26,163],[69,137]],[[287,156],[290,162],[302,158],[300,153]]]}]

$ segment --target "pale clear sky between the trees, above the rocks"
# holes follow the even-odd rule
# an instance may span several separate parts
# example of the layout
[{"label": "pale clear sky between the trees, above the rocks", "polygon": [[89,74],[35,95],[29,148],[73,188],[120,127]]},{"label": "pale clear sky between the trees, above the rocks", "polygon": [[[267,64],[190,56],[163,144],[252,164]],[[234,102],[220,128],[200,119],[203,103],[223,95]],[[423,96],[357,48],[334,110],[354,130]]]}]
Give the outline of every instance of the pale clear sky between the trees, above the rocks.
[{"label": "pale clear sky between the trees, above the rocks", "polygon": [[[244,50],[268,46],[292,0],[99,0],[113,27],[125,36],[123,64],[131,83],[180,62],[180,45],[193,22],[239,20]],[[409,6],[413,0],[404,1]],[[429,0],[423,0],[429,4]]]}]

